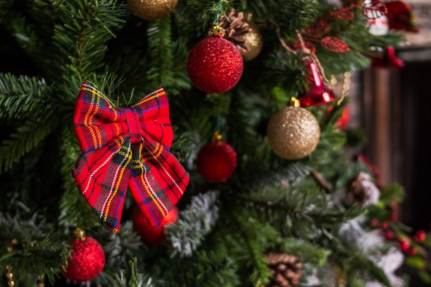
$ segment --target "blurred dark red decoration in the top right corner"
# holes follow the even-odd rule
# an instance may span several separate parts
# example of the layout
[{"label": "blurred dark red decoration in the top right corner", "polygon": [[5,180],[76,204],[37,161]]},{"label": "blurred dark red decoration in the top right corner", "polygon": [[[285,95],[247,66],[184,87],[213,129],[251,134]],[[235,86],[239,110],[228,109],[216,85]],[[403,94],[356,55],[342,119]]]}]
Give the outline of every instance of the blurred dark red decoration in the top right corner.
[{"label": "blurred dark red decoration in the top right corner", "polygon": [[386,3],[386,7],[390,29],[419,32],[419,28],[414,23],[414,14],[410,5],[403,1],[391,1]]}]

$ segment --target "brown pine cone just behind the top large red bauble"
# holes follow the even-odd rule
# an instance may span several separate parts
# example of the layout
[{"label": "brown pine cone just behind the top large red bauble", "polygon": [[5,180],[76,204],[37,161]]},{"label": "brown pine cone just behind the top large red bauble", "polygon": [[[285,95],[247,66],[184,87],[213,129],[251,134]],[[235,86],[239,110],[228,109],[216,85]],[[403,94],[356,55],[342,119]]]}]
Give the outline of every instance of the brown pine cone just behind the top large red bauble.
[{"label": "brown pine cone just behind the top large red bauble", "polygon": [[[232,9],[231,12],[224,17],[224,15],[220,16],[220,23],[218,24],[222,31],[220,31],[223,35],[224,39],[231,41],[234,43],[239,49],[244,51],[248,51],[249,47],[245,45],[245,41],[241,39],[241,36],[247,34],[251,29],[249,28],[248,23],[242,22],[244,19],[243,12],[235,12],[235,9]],[[209,34],[212,35],[212,30],[209,31]]]}]

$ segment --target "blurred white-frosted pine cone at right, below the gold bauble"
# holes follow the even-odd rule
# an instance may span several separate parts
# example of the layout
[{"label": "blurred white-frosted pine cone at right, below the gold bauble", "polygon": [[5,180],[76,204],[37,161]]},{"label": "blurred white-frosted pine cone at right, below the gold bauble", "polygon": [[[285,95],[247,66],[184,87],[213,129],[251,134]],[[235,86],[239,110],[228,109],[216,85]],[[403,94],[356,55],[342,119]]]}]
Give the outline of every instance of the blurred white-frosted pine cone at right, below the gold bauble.
[{"label": "blurred white-frosted pine cone at right, below the gold bauble", "polygon": [[366,207],[377,204],[380,198],[380,191],[372,182],[368,173],[361,172],[346,184],[347,200],[350,204],[357,203]]}]

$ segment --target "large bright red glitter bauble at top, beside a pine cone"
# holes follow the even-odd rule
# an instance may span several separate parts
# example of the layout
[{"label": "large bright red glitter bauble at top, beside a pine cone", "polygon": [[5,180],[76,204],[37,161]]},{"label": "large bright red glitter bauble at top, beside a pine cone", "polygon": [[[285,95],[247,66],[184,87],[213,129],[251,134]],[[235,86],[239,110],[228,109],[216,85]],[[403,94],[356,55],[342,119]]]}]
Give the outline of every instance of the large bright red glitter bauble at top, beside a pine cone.
[{"label": "large bright red glitter bauble at top, beside a pine cone", "polygon": [[232,89],[240,81],[243,66],[238,47],[222,36],[200,41],[187,58],[187,74],[191,83],[209,94]]}]

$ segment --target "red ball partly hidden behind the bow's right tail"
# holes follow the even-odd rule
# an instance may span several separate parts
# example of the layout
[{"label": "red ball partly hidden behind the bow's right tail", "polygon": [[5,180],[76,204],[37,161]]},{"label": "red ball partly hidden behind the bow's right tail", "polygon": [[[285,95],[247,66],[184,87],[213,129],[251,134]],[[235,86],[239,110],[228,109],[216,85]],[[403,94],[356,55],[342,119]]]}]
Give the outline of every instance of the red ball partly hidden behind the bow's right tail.
[{"label": "red ball partly hidden behind the bow's right tail", "polygon": [[144,213],[140,211],[138,206],[135,206],[132,209],[132,222],[143,242],[149,245],[160,245],[166,240],[165,225],[176,222],[179,214],[178,208],[174,206],[162,220],[160,226],[153,228]]}]

